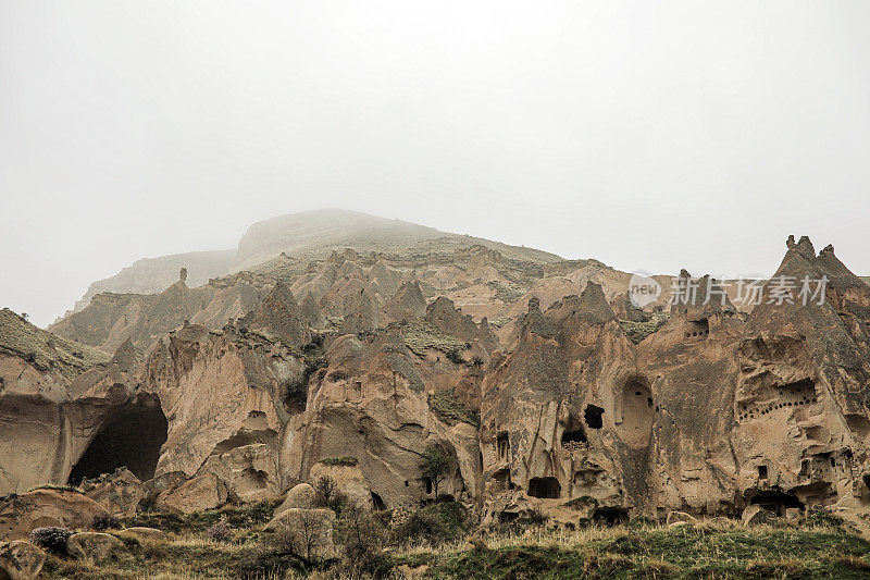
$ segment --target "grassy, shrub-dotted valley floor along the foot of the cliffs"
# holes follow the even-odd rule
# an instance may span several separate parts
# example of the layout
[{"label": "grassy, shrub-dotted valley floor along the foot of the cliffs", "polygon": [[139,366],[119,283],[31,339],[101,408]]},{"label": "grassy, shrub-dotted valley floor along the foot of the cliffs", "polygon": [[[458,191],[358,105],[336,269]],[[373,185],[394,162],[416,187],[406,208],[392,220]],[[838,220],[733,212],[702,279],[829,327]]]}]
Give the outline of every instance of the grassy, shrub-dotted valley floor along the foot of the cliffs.
[{"label": "grassy, shrub-dotted valley floor along the foot of the cliffs", "polygon": [[[870,542],[831,521],[758,526],[718,518],[673,527],[629,525],[575,531],[512,527],[388,541],[368,556],[339,555],[314,566],[276,550],[258,515],[224,514],[228,532],[214,539],[219,513],[139,518],[170,532],[129,542],[128,552],[96,565],[50,556],[45,578],[870,578]],[[387,547],[383,547],[387,546]],[[372,554],[375,554],[372,556]],[[352,562],[348,562],[348,559]]]}]

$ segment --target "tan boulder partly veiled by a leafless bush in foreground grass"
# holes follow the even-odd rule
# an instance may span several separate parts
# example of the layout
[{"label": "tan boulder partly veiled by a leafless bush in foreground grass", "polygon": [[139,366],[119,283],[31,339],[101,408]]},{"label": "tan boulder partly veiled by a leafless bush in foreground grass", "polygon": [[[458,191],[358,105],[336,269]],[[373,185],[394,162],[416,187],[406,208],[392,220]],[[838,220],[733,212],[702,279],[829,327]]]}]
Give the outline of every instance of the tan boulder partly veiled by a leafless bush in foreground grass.
[{"label": "tan boulder partly veiled by a leafless bush in foreground grass", "polygon": [[334,521],[332,509],[291,507],[272,518],[263,531],[288,534],[294,552],[309,560],[327,559],[337,556],[333,543]]}]

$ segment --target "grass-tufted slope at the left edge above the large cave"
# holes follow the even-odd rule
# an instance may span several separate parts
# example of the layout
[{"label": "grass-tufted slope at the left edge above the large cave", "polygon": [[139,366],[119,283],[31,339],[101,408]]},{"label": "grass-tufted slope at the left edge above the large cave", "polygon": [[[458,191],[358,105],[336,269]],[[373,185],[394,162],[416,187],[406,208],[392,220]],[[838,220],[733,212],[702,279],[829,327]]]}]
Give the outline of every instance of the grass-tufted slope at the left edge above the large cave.
[{"label": "grass-tufted slope at the left edge above the large cave", "polygon": [[112,358],[97,348],[44,331],[8,308],[0,310],[0,351],[32,359],[40,369],[54,368],[67,379]]}]

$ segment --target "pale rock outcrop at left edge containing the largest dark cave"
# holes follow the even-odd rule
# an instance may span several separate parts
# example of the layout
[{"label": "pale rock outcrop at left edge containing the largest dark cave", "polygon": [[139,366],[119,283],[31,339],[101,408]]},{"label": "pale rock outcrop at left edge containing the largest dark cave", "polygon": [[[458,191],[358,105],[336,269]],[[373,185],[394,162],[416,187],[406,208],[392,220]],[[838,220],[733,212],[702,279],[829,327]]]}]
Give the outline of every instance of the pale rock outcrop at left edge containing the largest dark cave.
[{"label": "pale rock outcrop at left edge containing the largest dark cave", "polygon": [[[4,325],[0,334],[15,333],[36,331],[22,321],[13,330]],[[39,333],[47,336],[46,345],[78,353],[72,343]],[[154,397],[138,391],[132,345],[125,343],[110,360],[91,363],[74,379],[62,362],[47,360],[0,354],[0,492],[78,483],[122,465],[142,479],[152,477],[165,420]],[[116,462],[121,457],[124,464]]]}]

